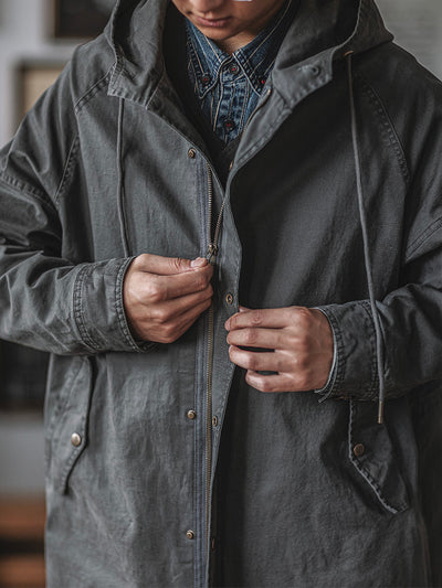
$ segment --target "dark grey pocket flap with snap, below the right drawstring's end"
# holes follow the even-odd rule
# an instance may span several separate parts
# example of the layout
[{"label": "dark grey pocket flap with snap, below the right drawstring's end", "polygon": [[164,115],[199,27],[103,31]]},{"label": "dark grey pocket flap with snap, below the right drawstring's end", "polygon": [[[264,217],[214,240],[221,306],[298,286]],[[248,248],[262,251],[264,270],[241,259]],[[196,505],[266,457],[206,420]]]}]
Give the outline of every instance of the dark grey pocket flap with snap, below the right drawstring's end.
[{"label": "dark grey pocket flap with snap, below the right drawstring's end", "polygon": [[350,400],[348,455],[380,504],[390,513],[409,504],[406,482],[386,425],[377,423],[377,404]]}]

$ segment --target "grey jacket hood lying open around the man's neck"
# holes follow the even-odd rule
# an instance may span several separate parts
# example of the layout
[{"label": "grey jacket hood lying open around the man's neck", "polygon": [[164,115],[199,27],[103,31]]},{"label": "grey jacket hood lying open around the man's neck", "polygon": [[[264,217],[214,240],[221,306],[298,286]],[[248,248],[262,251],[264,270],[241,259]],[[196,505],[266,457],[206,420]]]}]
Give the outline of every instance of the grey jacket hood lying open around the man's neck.
[{"label": "grey jacket hood lying open around the man's neck", "polygon": [[[118,0],[105,30],[115,54],[108,94],[148,106],[167,81],[162,35],[169,0]],[[273,86],[290,105],[327,84],[347,51],[362,53],[392,40],[373,0],[301,0],[280,49]],[[156,100],[158,101],[158,100]]]}]

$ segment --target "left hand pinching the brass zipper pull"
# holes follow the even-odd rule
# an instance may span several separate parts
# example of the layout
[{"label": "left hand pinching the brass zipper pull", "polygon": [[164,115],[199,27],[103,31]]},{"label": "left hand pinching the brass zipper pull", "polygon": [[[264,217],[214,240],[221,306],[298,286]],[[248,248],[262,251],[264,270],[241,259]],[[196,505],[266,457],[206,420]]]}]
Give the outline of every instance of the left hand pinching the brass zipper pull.
[{"label": "left hand pinching the brass zipper pull", "polygon": [[210,307],[212,274],[203,257],[136,257],[123,285],[126,317],[135,335],[157,343],[177,341]]}]

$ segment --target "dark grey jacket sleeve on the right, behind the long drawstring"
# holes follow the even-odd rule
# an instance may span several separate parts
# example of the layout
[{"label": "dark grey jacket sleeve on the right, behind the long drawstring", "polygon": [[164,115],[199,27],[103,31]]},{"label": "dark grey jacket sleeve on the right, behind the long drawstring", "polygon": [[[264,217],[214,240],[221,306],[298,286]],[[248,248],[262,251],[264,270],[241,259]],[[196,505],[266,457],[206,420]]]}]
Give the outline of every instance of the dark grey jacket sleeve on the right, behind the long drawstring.
[{"label": "dark grey jacket sleeve on the right, behind the long drawstring", "polygon": [[[427,121],[410,132],[412,147],[406,152],[412,168],[399,286],[385,297],[378,295],[387,399],[442,379],[442,133],[438,127],[436,120]],[[382,268],[373,271],[379,276]],[[336,363],[327,385],[317,392],[325,397],[377,399],[376,335],[369,301],[320,310],[334,332]]]}]

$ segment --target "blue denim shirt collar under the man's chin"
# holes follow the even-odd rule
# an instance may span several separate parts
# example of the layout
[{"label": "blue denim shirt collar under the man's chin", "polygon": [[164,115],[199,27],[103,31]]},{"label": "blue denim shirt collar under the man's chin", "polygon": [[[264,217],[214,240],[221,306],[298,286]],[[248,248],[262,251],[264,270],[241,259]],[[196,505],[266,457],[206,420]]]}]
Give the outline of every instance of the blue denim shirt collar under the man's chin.
[{"label": "blue denim shirt collar under the man's chin", "polygon": [[272,71],[281,43],[292,23],[299,0],[287,0],[271,23],[248,45],[232,55],[224,53],[186,19],[187,51],[196,72],[196,93],[202,99],[219,83],[227,62],[240,67],[257,95]]}]

